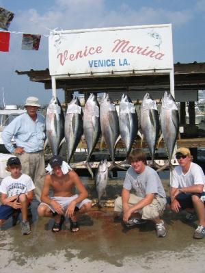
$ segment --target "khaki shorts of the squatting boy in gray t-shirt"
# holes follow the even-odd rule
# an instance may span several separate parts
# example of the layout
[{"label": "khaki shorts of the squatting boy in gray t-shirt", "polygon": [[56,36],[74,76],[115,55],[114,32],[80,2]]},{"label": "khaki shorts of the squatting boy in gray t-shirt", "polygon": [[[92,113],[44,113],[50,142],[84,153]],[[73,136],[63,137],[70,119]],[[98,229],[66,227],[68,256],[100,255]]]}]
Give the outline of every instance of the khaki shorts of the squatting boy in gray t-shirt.
[{"label": "khaki shorts of the squatting boy in gray t-shirt", "polygon": [[[138,197],[135,194],[131,194],[130,198],[128,200],[128,205],[130,207],[133,207],[136,205],[143,197]],[[165,201],[163,198],[156,196],[154,197],[154,200],[150,205],[147,205],[146,207],[143,207],[143,209],[140,209],[139,211],[136,211],[141,214],[141,219],[154,219],[159,216],[162,216],[163,211],[165,209]],[[115,208],[114,211],[122,212],[122,197],[118,197],[115,200]]]}]

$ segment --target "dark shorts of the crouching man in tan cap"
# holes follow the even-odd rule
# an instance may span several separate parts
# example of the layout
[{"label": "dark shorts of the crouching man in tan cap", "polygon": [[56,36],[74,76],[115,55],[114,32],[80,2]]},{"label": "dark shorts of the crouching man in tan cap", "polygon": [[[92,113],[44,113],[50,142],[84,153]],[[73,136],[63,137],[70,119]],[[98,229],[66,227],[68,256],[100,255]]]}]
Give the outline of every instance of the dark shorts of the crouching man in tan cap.
[{"label": "dark shorts of the crouching man in tan cap", "polygon": [[[199,193],[192,193],[192,194],[184,194],[184,192],[180,192],[176,196],[176,200],[178,200],[178,203],[180,203],[180,210],[184,209],[193,209],[193,202],[191,199],[191,196],[198,196],[198,198],[201,198],[202,196],[205,196],[205,192]],[[167,197],[167,204],[171,205],[171,198]]]}]

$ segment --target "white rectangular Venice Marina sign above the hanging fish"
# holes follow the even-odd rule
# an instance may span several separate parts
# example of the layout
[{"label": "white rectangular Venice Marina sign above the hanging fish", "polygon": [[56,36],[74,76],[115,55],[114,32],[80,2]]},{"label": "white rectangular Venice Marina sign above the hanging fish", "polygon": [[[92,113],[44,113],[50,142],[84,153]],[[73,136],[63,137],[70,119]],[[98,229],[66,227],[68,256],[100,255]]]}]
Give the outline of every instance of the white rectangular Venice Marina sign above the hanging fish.
[{"label": "white rectangular Venice Marina sign above the hanging fish", "polygon": [[53,31],[52,76],[90,77],[173,69],[171,25]]}]

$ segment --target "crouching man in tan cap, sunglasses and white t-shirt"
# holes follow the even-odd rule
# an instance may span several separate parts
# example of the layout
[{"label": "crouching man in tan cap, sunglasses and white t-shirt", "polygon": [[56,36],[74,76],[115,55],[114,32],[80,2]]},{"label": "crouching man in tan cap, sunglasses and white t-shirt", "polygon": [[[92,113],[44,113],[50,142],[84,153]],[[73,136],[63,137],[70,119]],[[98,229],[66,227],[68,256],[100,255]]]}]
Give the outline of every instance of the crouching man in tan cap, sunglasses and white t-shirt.
[{"label": "crouching man in tan cap, sunglasses and white t-shirt", "polygon": [[199,226],[193,237],[202,239],[205,237],[205,208],[204,208],[204,184],[205,176],[202,168],[191,162],[192,157],[189,148],[178,148],[176,159],[179,166],[174,168],[170,187],[170,204],[172,211],[179,212],[182,209],[194,209],[199,219]]}]

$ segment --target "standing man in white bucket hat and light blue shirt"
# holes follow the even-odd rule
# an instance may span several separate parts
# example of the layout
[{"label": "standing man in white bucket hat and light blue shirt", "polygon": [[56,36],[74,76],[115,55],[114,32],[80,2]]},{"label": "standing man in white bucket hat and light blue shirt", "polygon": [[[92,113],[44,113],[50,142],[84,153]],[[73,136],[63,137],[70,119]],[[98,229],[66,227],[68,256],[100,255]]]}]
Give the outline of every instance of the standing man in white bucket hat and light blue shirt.
[{"label": "standing man in white bucket hat and light blue shirt", "polygon": [[[22,164],[22,172],[29,175],[36,186],[36,199],[40,201],[44,181],[44,117],[38,114],[40,107],[38,98],[29,96],[25,102],[27,113],[22,114],[5,127],[2,133],[5,148],[14,153]],[[16,142],[16,148],[12,144]]]}]

